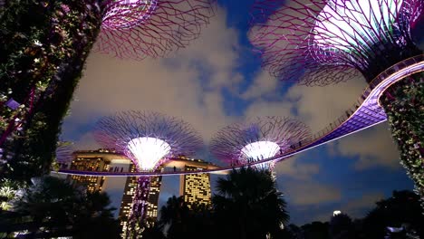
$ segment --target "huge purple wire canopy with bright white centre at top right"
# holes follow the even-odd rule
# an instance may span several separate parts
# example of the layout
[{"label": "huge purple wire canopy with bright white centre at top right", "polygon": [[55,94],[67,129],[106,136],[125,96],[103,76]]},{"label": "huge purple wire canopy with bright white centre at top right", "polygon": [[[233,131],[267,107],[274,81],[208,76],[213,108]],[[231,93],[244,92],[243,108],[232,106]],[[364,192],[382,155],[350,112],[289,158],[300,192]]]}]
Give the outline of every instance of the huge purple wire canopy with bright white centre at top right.
[{"label": "huge purple wire canopy with bright white centre at top right", "polygon": [[419,54],[410,29],[422,0],[279,3],[257,0],[250,37],[265,68],[284,81],[326,85],[358,71],[371,80]]}]

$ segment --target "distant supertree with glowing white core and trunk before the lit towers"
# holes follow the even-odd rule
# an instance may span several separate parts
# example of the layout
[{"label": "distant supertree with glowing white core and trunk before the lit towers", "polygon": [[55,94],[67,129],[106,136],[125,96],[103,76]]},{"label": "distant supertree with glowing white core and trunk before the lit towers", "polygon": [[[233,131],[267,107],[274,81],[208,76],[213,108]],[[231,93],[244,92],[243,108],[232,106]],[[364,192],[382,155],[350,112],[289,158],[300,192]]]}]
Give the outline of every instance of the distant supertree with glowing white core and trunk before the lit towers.
[{"label": "distant supertree with glowing white core and trunk before the lit towers", "polygon": [[[94,136],[103,147],[125,154],[140,171],[155,170],[171,157],[191,156],[203,144],[187,122],[149,111],[123,111],[104,117],[96,124]],[[149,183],[149,177],[138,179],[127,237],[135,238],[142,231]]]}]

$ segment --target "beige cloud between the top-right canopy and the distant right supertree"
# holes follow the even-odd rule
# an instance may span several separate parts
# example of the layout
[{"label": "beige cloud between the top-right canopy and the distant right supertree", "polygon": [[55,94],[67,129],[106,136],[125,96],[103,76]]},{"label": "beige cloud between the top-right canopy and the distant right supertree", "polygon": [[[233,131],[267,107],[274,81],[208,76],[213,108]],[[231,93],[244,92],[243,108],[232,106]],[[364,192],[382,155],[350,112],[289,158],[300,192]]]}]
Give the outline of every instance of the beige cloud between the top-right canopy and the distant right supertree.
[{"label": "beige cloud between the top-right canopy and the distant right supertree", "polygon": [[263,85],[257,83],[266,81],[265,79],[262,73],[259,74],[251,88],[243,94],[245,97],[255,99],[246,109],[246,116],[258,114],[295,116],[309,125],[313,132],[328,126],[345,110],[350,109],[366,86],[361,77],[326,87],[294,85],[279,100],[264,100],[261,96],[280,91],[278,88],[273,89],[268,83]]}]

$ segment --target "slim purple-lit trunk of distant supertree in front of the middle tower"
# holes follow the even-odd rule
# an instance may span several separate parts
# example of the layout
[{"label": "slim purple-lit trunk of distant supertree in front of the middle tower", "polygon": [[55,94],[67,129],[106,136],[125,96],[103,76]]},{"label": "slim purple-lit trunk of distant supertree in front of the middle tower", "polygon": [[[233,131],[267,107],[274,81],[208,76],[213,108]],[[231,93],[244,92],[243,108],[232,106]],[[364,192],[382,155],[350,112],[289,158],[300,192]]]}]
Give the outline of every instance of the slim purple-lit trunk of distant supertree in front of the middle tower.
[{"label": "slim purple-lit trunk of distant supertree in front of the middle tower", "polygon": [[140,238],[146,221],[149,199],[150,177],[139,177],[132,199],[132,208],[128,218],[126,238]]}]

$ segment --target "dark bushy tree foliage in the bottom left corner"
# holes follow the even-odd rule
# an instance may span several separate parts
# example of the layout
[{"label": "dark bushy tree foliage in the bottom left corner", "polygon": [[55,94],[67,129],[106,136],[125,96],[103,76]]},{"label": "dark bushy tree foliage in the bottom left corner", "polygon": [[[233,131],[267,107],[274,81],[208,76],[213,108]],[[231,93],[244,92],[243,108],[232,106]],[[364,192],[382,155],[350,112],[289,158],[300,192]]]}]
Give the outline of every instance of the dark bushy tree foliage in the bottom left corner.
[{"label": "dark bushy tree foliage in the bottom left corner", "polygon": [[103,193],[86,194],[69,181],[42,177],[14,203],[14,212],[1,212],[0,232],[28,230],[29,238],[118,238],[120,225],[110,204]]}]

